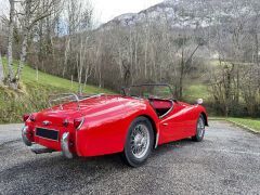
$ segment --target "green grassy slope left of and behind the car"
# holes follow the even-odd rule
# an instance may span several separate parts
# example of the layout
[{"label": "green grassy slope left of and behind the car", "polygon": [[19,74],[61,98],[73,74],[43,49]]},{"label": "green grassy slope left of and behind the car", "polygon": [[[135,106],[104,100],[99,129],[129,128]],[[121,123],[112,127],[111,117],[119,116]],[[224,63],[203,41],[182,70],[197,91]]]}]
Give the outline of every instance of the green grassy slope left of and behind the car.
[{"label": "green grassy slope left of and behind the car", "polygon": [[[6,65],[6,60],[3,58]],[[17,66],[17,62],[14,62]],[[25,66],[22,83],[18,91],[13,91],[4,87],[0,87],[0,123],[21,122],[25,113],[32,113],[48,107],[48,98],[50,94],[63,92],[77,92],[78,83],[70,80],[55,77],[42,72],[37,72]],[[106,89],[87,86],[84,93],[112,93]]]}]

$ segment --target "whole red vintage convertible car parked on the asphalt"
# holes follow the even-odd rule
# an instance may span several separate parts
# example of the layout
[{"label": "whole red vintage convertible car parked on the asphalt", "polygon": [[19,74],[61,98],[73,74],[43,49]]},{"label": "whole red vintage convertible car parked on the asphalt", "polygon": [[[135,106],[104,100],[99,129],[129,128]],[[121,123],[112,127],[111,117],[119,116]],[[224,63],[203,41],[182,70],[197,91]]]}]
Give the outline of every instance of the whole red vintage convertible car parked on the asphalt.
[{"label": "whole red vintage convertible car parked on the asphalt", "polygon": [[62,152],[67,158],[121,153],[129,166],[138,167],[160,144],[203,140],[208,120],[202,100],[179,102],[168,84],[131,86],[122,92],[52,98],[50,108],[24,115],[24,143],[40,145],[31,148],[37,154]]}]

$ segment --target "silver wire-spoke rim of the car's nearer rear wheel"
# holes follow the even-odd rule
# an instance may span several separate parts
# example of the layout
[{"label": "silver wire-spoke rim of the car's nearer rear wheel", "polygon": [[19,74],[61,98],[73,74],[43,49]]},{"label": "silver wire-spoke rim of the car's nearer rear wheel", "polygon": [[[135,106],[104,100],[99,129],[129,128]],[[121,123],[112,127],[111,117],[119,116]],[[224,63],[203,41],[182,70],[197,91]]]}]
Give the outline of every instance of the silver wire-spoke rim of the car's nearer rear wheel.
[{"label": "silver wire-spoke rim of the car's nearer rear wheel", "polygon": [[131,132],[131,152],[135,158],[142,158],[150,147],[150,132],[145,125],[138,125]]}]

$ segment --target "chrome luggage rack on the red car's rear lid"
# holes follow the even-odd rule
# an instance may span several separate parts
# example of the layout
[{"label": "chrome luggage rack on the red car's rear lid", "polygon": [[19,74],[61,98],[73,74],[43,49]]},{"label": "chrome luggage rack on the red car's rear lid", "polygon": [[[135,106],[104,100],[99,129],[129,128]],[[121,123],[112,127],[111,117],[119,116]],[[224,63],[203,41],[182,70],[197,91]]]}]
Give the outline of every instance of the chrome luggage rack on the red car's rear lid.
[{"label": "chrome luggage rack on the red car's rear lid", "polygon": [[[88,99],[93,99],[93,98],[99,98],[104,95],[104,93],[99,93],[99,94],[92,94],[92,95],[77,95],[76,93],[61,93],[61,94],[51,94],[49,96],[49,105],[50,108],[52,109],[52,106],[54,106],[52,103],[62,101],[62,100],[68,100],[65,103],[68,102],[76,102],[77,103],[77,109],[80,110],[80,102],[88,100]],[[70,101],[69,101],[70,100]],[[63,109],[63,104],[60,104],[60,108]]]}]

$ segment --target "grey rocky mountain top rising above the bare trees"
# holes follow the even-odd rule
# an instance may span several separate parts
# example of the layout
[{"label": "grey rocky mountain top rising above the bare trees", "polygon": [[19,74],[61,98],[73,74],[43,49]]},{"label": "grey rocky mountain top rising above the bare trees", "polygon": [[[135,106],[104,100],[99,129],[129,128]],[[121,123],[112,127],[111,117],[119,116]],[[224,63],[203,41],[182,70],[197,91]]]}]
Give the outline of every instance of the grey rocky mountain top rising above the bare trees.
[{"label": "grey rocky mountain top rising above the bare trees", "polygon": [[[253,0],[251,0],[253,1]],[[257,1],[256,1],[257,2]],[[252,14],[253,3],[244,0],[165,0],[139,13],[126,13],[102,25],[131,26],[144,22],[167,22],[171,27],[207,27],[239,15]]]}]

